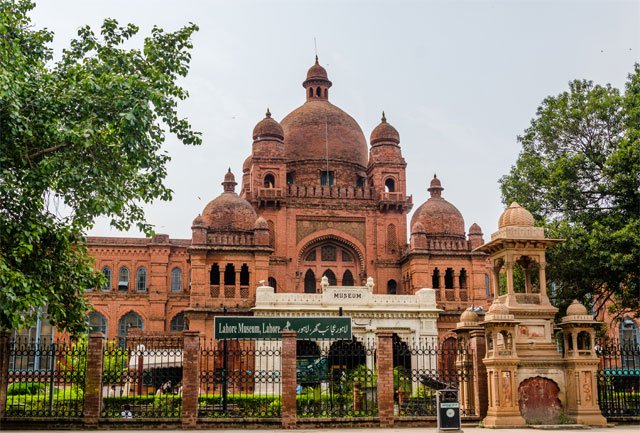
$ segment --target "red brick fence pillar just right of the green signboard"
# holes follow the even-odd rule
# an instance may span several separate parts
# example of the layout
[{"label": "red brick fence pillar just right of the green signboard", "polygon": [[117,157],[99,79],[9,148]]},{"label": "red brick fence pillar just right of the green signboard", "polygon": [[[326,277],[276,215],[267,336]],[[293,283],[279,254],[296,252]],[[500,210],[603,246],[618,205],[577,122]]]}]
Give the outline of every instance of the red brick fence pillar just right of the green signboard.
[{"label": "red brick fence pillar just right of the green signboard", "polygon": [[393,333],[380,331],[376,335],[380,427],[393,427]]}]

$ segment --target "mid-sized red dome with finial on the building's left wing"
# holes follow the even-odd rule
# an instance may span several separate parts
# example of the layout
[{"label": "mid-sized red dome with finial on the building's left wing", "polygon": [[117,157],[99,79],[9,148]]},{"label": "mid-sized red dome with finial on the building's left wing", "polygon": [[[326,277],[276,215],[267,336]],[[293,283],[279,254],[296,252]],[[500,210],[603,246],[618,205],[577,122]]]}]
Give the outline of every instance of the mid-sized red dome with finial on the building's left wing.
[{"label": "mid-sized red dome with finial on the building's left wing", "polygon": [[235,193],[235,177],[231,169],[224,177],[224,192],[207,204],[202,221],[217,231],[253,231],[258,217],[251,204]]}]

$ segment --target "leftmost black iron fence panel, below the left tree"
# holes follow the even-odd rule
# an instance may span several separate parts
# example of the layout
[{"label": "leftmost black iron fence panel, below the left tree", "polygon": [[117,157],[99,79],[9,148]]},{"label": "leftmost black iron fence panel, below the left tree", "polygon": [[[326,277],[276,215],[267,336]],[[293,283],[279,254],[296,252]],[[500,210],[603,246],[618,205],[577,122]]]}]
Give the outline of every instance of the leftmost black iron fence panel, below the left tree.
[{"label": "leftmost black iron fence panel, below the left tree", "polygon": [[7,417],[81,417],[87,342],[81,340],[9,343]]}]

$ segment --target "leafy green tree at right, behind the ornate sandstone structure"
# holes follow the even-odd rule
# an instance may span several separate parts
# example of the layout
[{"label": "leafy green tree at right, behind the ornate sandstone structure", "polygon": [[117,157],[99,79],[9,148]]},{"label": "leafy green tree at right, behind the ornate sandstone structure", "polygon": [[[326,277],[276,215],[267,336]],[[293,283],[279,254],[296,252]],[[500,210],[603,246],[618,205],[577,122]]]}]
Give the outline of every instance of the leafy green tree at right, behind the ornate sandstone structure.
[{"label": "leafy green tree at right, behind the ornate sandstone structure", "polygon": [[576,80],[546,98],[500,180],[505,204],[527,208],[550,237],[557,302],[640,316],[640,65],[624,93]]}]

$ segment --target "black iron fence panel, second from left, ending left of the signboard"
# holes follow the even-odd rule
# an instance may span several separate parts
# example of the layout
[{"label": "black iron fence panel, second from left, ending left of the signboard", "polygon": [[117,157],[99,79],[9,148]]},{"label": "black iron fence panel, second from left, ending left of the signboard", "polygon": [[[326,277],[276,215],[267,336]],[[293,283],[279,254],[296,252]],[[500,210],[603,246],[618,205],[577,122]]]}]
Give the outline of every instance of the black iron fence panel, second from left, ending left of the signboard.
[{"label": "black iron fence panel, second from left, ending left of the signboard", "polygon": [[182,347],[181,336],[106,341],[101,415],[107,418],[180,417]]}]

